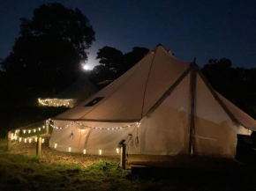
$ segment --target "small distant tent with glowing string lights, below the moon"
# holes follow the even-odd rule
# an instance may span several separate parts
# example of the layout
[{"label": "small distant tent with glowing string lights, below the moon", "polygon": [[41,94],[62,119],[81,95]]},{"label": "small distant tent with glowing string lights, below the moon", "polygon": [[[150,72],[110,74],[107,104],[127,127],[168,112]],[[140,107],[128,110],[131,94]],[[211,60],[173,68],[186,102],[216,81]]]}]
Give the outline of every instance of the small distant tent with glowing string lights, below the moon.
[{"label": "small distant tent with glowing string lights, below the moon", "polygon": [[66,88],[63,92],[57,94],[54,98],[38,99],[39,106],[42,107],[74,107],[95,92],[97,88],[92,84],[86,75],[79,77],[79,79]]}]

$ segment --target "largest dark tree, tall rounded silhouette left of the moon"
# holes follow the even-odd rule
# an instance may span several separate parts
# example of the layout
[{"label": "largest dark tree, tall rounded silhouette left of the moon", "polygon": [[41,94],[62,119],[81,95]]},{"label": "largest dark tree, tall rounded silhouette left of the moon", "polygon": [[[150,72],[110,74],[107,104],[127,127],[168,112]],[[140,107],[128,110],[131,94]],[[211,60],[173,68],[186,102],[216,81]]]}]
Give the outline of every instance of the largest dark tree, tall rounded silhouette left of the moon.
[{"label": "largest dark tree, tall rounded silhouette left of the moon", "polygon": [[87,17],[53,3],[35,9],[31,20],[20,20],[21,36],[2,62],[13,82],[31,92],[46,92],[45,96],[71,84],[95,40]]}]

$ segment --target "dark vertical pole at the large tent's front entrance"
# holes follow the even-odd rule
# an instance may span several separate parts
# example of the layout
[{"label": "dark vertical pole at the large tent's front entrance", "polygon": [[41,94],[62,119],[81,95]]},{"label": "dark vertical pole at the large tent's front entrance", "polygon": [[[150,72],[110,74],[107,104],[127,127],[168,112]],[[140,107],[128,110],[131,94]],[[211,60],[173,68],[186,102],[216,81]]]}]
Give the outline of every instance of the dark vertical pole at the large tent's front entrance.
[{"label": "dark vertical pole at the large tent's front entrance", "polygon": [[195,97],[196,97],[196,77],[197,77],[197,64],[194,62],[191,63],[192,71],[190,77],[190,96],[191,96],[191,116],[190,116],[190,134],[189,134],[189,155],[193,155],[193,135],[195,133]]}]

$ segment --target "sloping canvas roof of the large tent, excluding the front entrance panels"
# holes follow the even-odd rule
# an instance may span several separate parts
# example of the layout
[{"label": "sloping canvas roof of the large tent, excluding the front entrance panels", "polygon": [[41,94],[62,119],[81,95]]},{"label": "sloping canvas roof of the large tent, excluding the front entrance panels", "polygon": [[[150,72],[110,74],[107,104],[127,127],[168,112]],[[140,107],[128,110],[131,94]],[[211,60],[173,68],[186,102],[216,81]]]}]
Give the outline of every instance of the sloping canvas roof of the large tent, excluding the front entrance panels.
[{"label": "sloping canvas roof of the large tent, excluding the front entrance panels", "polygon": [[[97,92],[79,106],[59,114],[54,120],[64,121],[139,121],[161,104],[192,70],[189,62],[178,61],[171,51],[158,45],[131,70]],[[212,93],[214,93],[212,91]],[[219,104],[232,121],[256,130],[256,121],[216,93]],[[226,106],[226,107],[225,107]],[[237,121],[234,119],[238,119]],[[250,121],[250,122],[248,122]]]}]

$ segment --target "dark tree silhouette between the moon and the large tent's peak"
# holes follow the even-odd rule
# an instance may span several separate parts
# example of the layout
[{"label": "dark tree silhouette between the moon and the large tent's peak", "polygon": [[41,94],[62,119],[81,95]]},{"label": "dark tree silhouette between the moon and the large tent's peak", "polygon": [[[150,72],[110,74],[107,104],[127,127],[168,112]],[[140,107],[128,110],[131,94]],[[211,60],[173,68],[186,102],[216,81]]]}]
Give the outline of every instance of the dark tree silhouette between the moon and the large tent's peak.
[{"label": "dark tree silhouette between the moon and the large tent's peak", "polygon": [[101,65],[94,67],[90,74],[90,80],[94,84],[98,84],[105,80],[117,79],[139,62],[148,51],[147,48],[135,47],[132,48],[132,52],[123,54],[117,48],[103,47],[99,49],[96,57],[100,60]]}]

